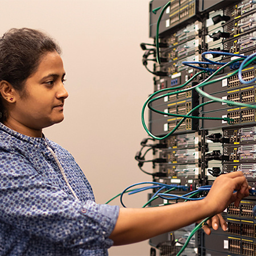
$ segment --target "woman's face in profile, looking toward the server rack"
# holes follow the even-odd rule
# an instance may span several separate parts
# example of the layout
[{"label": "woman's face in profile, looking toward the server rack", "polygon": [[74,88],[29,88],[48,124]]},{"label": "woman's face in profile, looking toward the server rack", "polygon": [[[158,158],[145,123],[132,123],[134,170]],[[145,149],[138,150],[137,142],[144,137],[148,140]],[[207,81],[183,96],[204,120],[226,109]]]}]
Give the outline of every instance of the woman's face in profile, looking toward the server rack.
[{"label": "woman's face in profile, looking toward the server rack", "polygon": [[68,97],[63,85],[64,76],[60,55],[57,52],[46,53],[36,72],[26,80],[24,93],[17,93],[8,119],[34,130],[63,121],[64,100]]}]

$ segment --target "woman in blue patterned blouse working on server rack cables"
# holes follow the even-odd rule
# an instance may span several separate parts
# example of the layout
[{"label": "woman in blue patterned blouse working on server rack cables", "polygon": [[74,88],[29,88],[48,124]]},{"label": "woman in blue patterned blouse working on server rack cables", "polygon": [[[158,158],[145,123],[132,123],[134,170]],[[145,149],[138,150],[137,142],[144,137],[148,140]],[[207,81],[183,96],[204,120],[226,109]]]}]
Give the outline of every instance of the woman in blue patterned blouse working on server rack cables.
[{"label": "woman in blue patterned blouse working on server rack cables", "polygon": [[[42,32],[12,29],[0,39],[1,255],[108,255],[113,243],[179,229],[249,195],[245,177],[234,172],[196,202],[147,209],[96,204],[75,159],[42,133],[64,118],[64,77],[60,48]],[[222,218],[212,222],[226,229]]]}]

